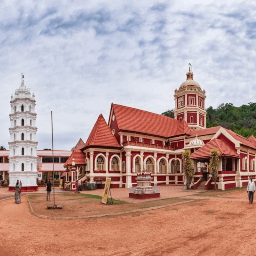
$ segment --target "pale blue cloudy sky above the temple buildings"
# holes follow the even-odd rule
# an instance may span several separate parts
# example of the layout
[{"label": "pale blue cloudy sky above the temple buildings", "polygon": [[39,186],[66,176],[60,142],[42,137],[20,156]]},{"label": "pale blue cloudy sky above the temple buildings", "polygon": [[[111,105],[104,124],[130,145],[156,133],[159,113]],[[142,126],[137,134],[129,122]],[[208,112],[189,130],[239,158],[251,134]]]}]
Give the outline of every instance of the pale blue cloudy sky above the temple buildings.
[{"label": "pale blue cloudy sky above the temple buildings", "polygon": [[256,102],[255,1],[44,0],[0,2],[0,145],[10,139],[10,100],[35,93],[38,149],[87,140],[111,102],[161,114],[194,80],[206,108]]}]

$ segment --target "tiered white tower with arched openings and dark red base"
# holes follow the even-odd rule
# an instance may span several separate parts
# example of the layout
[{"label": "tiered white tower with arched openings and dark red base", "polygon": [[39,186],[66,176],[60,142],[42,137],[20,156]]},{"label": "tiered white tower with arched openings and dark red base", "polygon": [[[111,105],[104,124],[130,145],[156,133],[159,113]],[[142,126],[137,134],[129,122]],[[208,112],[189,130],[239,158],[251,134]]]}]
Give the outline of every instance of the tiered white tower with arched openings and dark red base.
[{"label": "tiered white tower with arched openings and dark red base", "polygon": [[15,190],[17,180],[22,182],[22,191],[36,191],[36,101],[34,93],[31,97],[30,90],[24,85],[23,74],[21,85],[10,103],[9,191]]}]

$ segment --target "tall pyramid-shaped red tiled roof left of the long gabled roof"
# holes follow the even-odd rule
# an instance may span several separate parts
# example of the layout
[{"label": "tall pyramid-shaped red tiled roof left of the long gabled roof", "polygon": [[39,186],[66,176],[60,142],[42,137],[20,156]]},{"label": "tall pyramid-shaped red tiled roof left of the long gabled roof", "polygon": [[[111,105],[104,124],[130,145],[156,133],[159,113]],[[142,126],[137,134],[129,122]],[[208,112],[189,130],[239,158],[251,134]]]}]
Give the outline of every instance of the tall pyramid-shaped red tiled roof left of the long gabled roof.
[{"label": "tall pyramid-shaped red tiled roof left of the long gabled roof", "polygon": [[120,147],[102,114],[98,117],[84,146]]}]

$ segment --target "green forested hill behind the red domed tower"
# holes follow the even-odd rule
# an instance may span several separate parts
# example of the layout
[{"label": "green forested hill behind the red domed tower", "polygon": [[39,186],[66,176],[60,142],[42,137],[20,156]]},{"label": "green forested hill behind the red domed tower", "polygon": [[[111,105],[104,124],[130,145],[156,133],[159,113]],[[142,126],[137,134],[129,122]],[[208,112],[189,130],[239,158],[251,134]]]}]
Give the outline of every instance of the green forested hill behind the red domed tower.
[{"label": "green forested hill behind the red domed tower", "polygon": [[[206,127],[222,126],[245,138],[256,137],[256,103],[248,103],[241,107],[234,107],[232,103],[222,103],[218,108],[206,109]],[[174,118],[173,109],[162,113]]]}]

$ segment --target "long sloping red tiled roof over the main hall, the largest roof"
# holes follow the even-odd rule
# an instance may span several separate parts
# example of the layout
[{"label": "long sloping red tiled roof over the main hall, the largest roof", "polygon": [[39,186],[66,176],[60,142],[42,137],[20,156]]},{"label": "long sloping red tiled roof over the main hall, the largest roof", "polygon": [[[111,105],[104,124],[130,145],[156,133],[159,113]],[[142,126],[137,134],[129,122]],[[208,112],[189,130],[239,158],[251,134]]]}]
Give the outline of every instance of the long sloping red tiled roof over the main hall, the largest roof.
[{"label": "long sloping red tiled roof over the main hall, the largest roof", "polygon": [[168,116],[162,116],[114,103],[112,103],[111,108],[114,110],[119,131],[129,131],[168,138],[176,135],[176,131],[178,131],[180,127],[179,120]]}]

